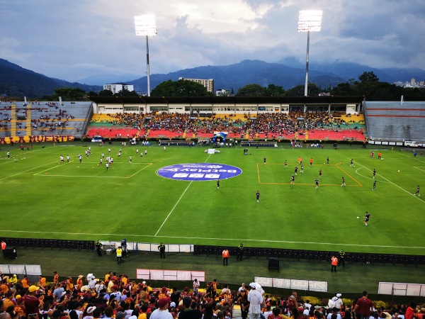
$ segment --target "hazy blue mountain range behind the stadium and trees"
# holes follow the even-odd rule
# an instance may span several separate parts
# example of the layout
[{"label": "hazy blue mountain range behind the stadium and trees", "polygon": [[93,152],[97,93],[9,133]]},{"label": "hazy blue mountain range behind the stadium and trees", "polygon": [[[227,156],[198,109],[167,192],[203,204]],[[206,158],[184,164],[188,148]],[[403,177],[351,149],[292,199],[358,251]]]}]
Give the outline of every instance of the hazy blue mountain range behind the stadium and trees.
[{"label": "hazy blue mountain range behind the stadium and trees", "polygon": [[[136,77],[135,74],[94,75],[81,79],[79,82],[82,82],[82,84],[46,77],[3,59],[0,59],[0,70],[0,94],[16,97],[50,95],[59,87],[76,87],[86,92],[100,91],[103,89],[103,84],[107,83],[132,84],[135,86],[135,90],[140,93],[146,92],[147,88],[147,77],[131,80],[131,77]],[[310,64],[309,82],[327,88],[348,82],[349,79],[358,79],[358,76],[363,72],[370,71],[376,74],[380,82],[409,82],[412,78],[418,82],[425,79],[425,70],[419,68],[375,69],[351,62],[323,62]],[[151,89],[169,79],[176,81],[179,77],[214,79],[215,89],[228,89],[235,92],[246,84],[259,84],[261,86],[275,84],[283,86],[283,89],[290,89],[293,86],[304,84],[305,66],[295,59],[285,59],[278,63],[244,60],[234,65],[194,67],[169,74],[151,74]]]}]

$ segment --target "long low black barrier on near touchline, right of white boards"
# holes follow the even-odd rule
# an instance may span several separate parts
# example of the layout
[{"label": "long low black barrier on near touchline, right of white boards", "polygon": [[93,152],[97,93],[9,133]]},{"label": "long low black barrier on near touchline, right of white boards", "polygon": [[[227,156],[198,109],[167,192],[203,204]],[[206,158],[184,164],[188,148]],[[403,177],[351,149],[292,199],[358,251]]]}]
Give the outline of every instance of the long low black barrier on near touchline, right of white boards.
[{"label": "long low black barrier on near touchline, right of white boards", "polygon": [[[207,255],[220,255],[222,251],[227,248],[229,254],[232,256],[237,255],[237,247],[220,247],[208,245],[194,245],[193,254],[207,254]],[[336,252],[316,251],[316,250],[287,250],[280,248],[257,248],[257,247],[244,247],[245,257],[267,257],[279,259],[307,259],[312,261],[331,261],[331,257]],[[346,252],[346,262],[363,262],[364,264],[425,264],[424,255],[411,255],[411,254],[372,254],[362,252]]]}]

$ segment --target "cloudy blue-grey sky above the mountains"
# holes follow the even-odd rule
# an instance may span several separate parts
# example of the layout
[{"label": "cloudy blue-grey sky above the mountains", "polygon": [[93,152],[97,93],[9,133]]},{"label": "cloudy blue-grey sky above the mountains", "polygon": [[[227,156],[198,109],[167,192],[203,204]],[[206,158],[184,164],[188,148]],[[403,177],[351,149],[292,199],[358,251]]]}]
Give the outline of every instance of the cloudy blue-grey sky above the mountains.
[{"label": "cloudy blue-grey sky above the mountains", "polygon": [[146,44],[133,17],[153,13],[151,74],[242,60],[305,63],[307,34],[297,20],[307,9],[323,10],[310,65],[425,68],[425,0],[0,0],[0,57],[72,82],[143,77]]}]

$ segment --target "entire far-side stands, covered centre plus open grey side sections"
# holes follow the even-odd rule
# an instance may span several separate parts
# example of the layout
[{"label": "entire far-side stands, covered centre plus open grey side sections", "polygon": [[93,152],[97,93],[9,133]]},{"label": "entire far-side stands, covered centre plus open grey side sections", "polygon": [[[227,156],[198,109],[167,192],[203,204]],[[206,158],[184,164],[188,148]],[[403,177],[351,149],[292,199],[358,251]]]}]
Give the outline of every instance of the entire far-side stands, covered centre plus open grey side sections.
[{"label": "entire far-side stands, covered centre plus open grey side sections", "polygon": [[[92,102],[1,103],[0,138],[70,136],[205,140],[416,140],[424,142],[424,102],[363,96],[111,97]],[[34,138],[36,137],[36,138]]]}]

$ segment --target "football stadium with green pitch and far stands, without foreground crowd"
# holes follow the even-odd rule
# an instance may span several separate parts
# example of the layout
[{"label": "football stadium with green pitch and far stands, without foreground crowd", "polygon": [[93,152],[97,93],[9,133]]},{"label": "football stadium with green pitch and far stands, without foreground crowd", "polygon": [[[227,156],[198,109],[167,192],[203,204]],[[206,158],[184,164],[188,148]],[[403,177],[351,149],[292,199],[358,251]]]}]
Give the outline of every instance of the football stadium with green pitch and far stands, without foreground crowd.
[{"label": "football stadium with green pitch and far stands, without foreground crowd", "polygon": [[424,103],[206,99],[1,103],[1,271],[423,296]]}]

